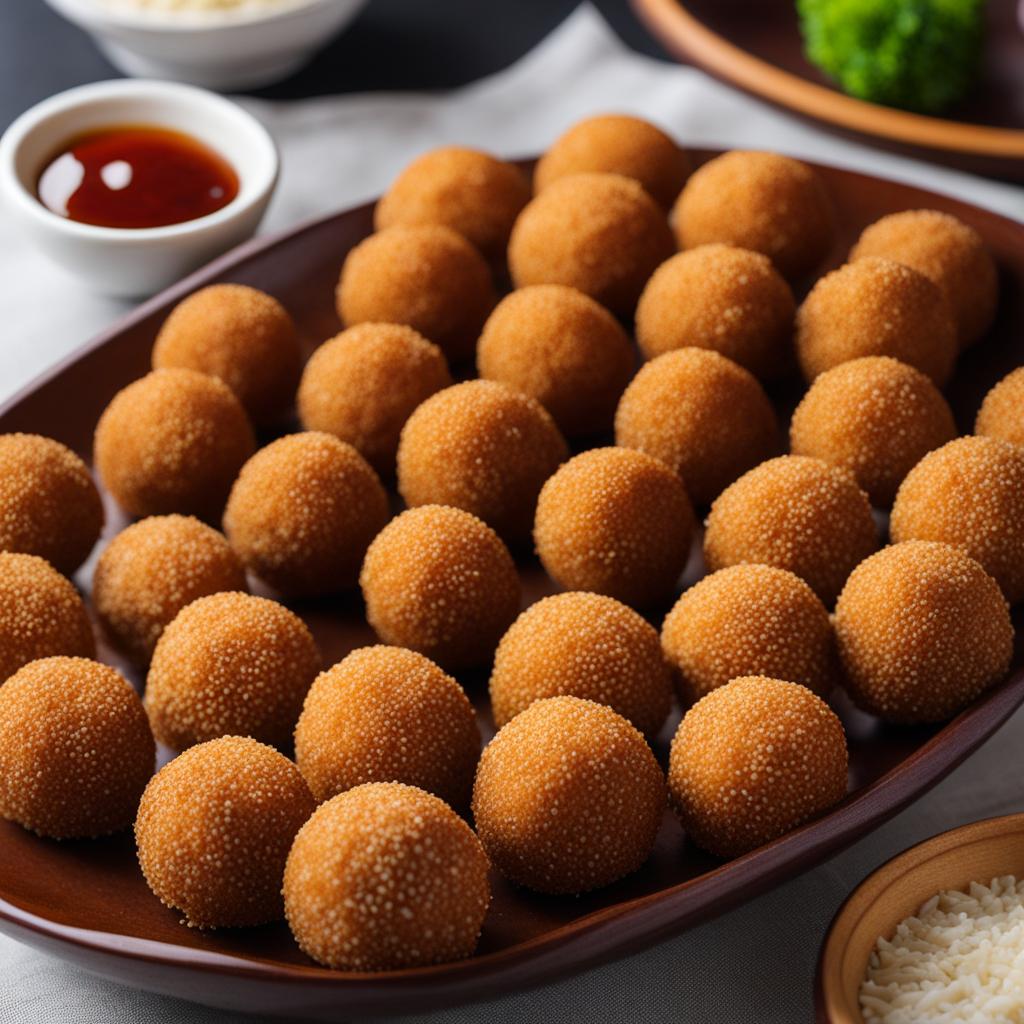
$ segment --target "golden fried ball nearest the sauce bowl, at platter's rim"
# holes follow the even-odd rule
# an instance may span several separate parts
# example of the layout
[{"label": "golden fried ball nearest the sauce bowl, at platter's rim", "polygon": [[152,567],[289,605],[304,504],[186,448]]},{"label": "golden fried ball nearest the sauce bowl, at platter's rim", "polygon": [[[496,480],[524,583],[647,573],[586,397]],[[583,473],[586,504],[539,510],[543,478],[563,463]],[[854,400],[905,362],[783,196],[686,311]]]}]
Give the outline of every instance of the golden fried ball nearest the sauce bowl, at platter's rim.
[{"label": "golden fried ball nearest the sauce bowl, at platter's rim", "polygon": [[245,285],[210,285],[171,310],[153,346],[153,369],[218,377],[254,423],[288,412],[302,369],[292,317],[272,296]]}]

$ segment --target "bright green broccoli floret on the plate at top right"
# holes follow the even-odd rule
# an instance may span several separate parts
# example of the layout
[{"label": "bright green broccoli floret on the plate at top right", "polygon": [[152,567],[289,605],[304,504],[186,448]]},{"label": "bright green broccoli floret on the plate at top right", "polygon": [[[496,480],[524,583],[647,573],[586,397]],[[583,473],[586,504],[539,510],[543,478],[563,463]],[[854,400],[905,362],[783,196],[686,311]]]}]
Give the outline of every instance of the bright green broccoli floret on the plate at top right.
[{"label": "bright green broccoli floret on the plate at top right", "polygon": [[844,92],[935,114],[964,97],[984,0],[797,0],[808,59]]}]

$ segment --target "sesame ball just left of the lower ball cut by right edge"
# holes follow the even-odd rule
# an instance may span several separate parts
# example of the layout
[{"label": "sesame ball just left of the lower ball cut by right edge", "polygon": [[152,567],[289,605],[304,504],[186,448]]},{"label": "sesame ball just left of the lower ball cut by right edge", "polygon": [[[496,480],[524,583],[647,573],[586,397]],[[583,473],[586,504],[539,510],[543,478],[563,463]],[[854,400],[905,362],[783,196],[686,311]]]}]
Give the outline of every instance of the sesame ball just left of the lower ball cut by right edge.
[{"label": "sesame ball just left of the lower ball cut by right edge", "polygon": [[846,578],[879,546],[867,495],[820,459],[769,459],[711,507],[705,561],[715,571],[760,562],[788,569],[831,607]]}]

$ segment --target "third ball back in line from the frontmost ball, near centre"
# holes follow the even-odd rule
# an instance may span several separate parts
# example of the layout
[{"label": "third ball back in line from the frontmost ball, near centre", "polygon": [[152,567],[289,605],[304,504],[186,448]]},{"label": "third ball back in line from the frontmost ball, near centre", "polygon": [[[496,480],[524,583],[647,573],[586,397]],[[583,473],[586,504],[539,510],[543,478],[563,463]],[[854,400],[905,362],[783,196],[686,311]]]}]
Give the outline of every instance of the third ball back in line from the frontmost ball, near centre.
[{"label": "third ball back in line from the frontmost ball, near centre", "polygon": [[446,669],[488,664],[519,611],[508,548],[482,520],[443,505],[392,519],[370,545],[359,584],[384,643]]}]

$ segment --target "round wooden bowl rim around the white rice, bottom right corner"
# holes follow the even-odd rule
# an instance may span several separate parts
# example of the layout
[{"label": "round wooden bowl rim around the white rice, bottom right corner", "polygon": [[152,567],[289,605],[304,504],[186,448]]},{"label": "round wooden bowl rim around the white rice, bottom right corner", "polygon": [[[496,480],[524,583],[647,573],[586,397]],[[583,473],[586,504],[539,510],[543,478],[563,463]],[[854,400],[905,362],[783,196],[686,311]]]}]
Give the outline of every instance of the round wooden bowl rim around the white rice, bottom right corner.
[{"label": "round wooden bowl rim around the white rice, bottom right corner", "polygon": [[986,818],[910,847],[873,871],[839,908],[821,947],[814,985],[818,1024],[863,1024],[857,997],[880,935],[943,889],[1024,876],[1024,814]]}]

